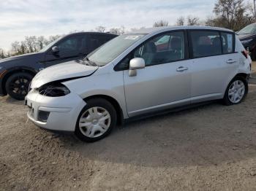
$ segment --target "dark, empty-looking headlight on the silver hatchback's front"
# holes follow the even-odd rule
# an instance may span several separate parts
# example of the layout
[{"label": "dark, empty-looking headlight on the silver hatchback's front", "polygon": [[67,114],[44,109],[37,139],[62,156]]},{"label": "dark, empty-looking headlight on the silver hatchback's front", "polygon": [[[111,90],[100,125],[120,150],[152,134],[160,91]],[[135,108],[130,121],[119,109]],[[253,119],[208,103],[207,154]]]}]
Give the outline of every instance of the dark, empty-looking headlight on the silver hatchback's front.
[{"label": "dark, empty-looking headlight on the silver hatchback's front", "polygon": [[70,93],[69,89],[59,82],[52,82],[42,85],[38,90],[39,94],[49,97],[60,97]]}]

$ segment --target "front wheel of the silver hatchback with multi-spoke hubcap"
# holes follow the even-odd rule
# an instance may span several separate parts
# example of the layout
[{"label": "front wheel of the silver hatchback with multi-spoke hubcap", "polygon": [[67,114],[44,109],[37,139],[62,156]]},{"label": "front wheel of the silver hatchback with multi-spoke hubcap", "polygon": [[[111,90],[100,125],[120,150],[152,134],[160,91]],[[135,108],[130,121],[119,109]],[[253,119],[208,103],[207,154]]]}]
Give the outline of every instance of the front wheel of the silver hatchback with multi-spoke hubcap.
[{"label": "front wheel of the silver hatchback with multi-spoke hubcap", "polygon": [[78,116],[75,135],[81,141],[94,142],[105,138],[116,126],[116,109],[103,98],[86,101]]}]

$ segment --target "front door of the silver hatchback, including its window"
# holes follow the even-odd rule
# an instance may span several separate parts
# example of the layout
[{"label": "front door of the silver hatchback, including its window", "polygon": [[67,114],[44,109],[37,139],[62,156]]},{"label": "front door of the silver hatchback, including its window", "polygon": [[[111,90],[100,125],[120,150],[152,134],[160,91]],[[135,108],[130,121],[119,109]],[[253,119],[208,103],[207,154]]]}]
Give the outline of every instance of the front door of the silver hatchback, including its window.
[{"label": "front door of the silver hatchback, including its window", "polygon": [[143,58],[146,68],[139,69],[135,77],[124,71],[129,117],[190,103],[186,51],[184,31],[176,31],[157,35],[131,53],[131,58]]}]

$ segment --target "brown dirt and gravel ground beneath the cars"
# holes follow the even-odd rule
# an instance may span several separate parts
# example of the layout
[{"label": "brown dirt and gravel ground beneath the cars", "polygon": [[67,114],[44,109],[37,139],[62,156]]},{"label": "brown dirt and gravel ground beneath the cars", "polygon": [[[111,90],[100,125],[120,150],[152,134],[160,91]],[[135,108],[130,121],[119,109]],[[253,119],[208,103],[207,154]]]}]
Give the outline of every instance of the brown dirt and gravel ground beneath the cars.
[{"label": "brown dirt and gravel ground beneath the cars", "polygon": [[242,104],[132,122],[93,144],[26,123],[26,110],[0,98],[0,190],[256,188],[256,85]]}]

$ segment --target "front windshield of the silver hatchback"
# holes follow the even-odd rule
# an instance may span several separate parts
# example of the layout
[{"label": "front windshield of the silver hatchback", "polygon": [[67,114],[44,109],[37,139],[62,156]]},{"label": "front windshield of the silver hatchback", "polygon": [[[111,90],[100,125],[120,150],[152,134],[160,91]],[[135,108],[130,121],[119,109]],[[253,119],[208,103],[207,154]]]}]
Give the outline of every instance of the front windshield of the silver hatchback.
[{"label": "front windshield of the silver hatchback", "polygon": [[88,59],[99,66],[105,66],[145,35],[146,34],[124,34],[118,36],[102,47],[99,47],[98,50],[91,52],[91,54],[88,55]]}]

